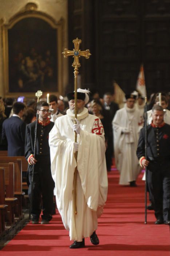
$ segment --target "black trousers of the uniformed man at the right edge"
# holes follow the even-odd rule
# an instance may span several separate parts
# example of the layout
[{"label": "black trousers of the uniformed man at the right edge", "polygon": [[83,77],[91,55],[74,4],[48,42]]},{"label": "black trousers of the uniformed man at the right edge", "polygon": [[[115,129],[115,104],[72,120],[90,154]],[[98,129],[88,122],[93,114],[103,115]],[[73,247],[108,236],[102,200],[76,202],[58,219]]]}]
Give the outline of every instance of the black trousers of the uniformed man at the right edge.
[{"label": "black trousers of the uniformed man at the right edge", "polygon": [[170,220],[170,160],[150,161],[147,183],[155,217]]}]

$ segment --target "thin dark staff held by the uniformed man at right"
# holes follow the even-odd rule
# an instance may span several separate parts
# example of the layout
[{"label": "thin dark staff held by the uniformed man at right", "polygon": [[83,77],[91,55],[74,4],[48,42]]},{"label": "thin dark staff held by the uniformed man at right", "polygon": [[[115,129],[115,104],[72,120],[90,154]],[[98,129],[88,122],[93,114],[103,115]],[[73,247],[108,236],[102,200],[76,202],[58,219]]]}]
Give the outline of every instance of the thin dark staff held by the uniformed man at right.
[{"label": "thin dark staff held by the uniformed man at right", "polygon": [[[147,160],[147,97],[145,97],[145,159]],[[147,224],[147,166],[145,168],[145,224]]]}]

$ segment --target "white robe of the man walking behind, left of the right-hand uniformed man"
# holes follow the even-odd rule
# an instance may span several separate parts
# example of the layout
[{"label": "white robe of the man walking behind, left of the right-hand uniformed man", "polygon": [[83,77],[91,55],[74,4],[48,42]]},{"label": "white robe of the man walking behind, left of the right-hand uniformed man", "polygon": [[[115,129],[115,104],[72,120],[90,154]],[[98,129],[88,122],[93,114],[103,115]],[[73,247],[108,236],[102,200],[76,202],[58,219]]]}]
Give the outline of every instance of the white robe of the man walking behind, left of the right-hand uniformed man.
[{"label": "white robe of the man walking behind, left of the right-hand uniformed man", "polygon": [[139,111],[124,108],[119,109],[112,121],[114,131],[114,154],[116,168],[120,172],[119,184],[128,185],[130,181],[135,181],[141,167],[137,158],[137,146],[139,132],[142,122]]}]

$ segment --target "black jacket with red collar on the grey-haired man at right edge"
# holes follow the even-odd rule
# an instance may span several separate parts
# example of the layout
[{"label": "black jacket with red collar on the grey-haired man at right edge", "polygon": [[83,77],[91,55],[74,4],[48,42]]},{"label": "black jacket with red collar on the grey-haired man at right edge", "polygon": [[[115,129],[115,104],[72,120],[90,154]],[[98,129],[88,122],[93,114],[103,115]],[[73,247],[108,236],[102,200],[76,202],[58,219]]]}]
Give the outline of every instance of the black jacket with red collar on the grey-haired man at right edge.
[{"label": "black jacket with red collar on the grey-haired man at right edge", "polygon": [[[141,129],[137,157],[145,157],[145,128]],[[147,126],[147,158],[148,160],[170,158],[170,125],[163,124],[162,127]]]}]

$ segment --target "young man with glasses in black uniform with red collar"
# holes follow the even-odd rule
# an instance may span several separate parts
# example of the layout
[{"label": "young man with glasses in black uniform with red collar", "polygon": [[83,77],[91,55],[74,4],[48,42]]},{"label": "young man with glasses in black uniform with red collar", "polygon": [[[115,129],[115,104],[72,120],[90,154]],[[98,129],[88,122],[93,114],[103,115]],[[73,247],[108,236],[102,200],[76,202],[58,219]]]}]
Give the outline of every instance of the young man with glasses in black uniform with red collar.
[{"label": "young man with glasses in black uniform with red collar", "polygon": [[29,178],[28,195],[31,199],[31,178],[32,166],[34,167],[34,180],[33,180],[33,201],[32,211],[33,216],[32,224],[39,223],[39,216],[41,213],[41,196],[43,215],[41,215],[41,224],[48,224],[52,219],[53,211],[53,191],[54,181],[51,176],[51,162],[50,162],[50,147],[48,144],[49,132],[51,131],[54,123],[50,121],[49,105],[45,101],[37,104],[37,113],[39,115],[37,124],[37,140],[36,140],[36,154],[33,156],[34,140],[35,140],[35,126],[36,122],[27,125],[25,135],[25,158],[27,159]]}]

